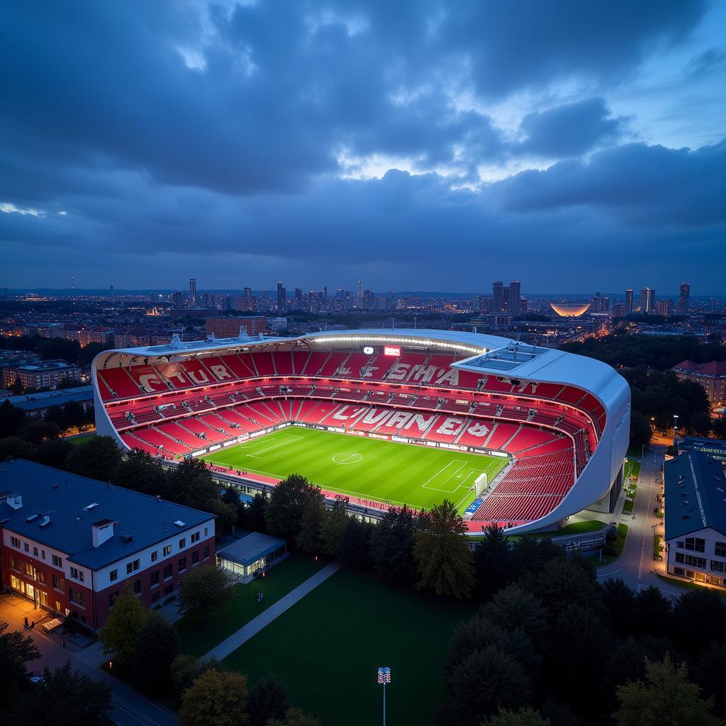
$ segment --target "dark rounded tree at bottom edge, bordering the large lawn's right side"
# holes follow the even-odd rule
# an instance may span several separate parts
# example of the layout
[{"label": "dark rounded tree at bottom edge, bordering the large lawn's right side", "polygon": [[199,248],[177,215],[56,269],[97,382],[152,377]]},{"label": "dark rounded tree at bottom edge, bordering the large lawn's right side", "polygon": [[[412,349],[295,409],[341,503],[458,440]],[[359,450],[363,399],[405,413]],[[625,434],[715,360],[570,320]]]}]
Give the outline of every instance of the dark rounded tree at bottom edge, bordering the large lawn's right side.
[{"label": "dark rounded tree at bottom edge, bordering the large lawn's right side", "polygon": [[446,679],[446,699],[440,721],[445,725],[477,726],[500,708],[529,703],[530,682],[521,663],[499,648],[476,650],[452,669]]}]

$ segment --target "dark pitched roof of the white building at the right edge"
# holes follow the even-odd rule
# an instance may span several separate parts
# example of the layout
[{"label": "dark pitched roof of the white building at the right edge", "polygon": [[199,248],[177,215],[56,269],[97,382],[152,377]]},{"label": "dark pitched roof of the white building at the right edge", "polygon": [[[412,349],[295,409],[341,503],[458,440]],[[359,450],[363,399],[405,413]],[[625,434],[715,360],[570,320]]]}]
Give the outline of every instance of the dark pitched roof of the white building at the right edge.
[{"label": "dark pitched roof of the white building at the right edge", "polygon": [[726,534],[726,476],[722,465],[690,451],[664,465],[666,539],[711,527]]}]

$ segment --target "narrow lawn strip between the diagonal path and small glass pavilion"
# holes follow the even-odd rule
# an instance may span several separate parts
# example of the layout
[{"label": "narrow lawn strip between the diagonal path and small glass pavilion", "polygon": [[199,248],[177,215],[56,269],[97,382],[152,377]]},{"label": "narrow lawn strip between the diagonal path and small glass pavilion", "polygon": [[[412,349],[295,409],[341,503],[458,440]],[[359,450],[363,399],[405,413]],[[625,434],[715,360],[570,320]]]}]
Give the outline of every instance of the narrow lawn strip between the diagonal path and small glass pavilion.
[{"label": "narrow lawn strip between the diagonal path and small glass pavilion", "polygon": [[[211,624],[203,625],[192,616],[177,621],[176,629],[181,637],[181,652],[192,656],[203,656],[226,637],[258,616],[262,611],[277,603],[299,584],[305,582],[329,560],[320,558],[317,562],[309,555],[293,552],[279,565],[271,568],[265,577],[258,577],[249,584],[236,584],[227,605],[212,613]],[[264,592],[264,600],[255,600],[256,592]]]}]

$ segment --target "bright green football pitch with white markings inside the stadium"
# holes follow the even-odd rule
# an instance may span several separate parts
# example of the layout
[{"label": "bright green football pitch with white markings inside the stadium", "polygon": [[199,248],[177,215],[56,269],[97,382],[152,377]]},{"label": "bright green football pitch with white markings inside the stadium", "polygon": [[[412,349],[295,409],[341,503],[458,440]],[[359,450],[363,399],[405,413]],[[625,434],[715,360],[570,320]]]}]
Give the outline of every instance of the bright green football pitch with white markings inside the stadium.
[{"label": "bright green football pitch with white markings inside the stadium", "polygon": [[346,433],[289,426],[203,457],[274,478],[301,474],[322,489],[384,504],[431,509],[449,499],[463,512],[474,481],[497,476],[507,460],[485,454],[400,444]]}]

